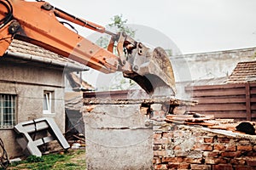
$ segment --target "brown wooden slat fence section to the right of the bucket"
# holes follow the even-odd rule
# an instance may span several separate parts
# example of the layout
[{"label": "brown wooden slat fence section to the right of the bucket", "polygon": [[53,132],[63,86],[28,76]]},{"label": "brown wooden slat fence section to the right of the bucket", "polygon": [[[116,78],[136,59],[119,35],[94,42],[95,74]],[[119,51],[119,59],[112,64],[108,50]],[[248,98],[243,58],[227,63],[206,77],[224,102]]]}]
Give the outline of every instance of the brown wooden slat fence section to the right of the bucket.
[{"label": "brown wooden slat fence section to the right of the bucket", "polygon": [[190,111],[215,118],[256,121],[256,83],[188,87],[199,104]]}]

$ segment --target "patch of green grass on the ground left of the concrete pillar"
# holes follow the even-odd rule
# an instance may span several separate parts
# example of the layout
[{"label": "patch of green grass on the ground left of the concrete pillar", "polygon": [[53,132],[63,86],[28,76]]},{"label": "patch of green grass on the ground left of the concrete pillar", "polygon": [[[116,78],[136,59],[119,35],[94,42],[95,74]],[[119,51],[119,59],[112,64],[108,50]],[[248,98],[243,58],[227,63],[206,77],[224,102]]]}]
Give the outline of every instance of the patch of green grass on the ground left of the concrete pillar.
[{"label": "patch of green grass on the ground left of the concrete pillar", "polygon": [[84,170],[85,150],[67,150],[64,154],[49,154],[42,157],[28,156],[26,160],[9,165],[9,170]]}]

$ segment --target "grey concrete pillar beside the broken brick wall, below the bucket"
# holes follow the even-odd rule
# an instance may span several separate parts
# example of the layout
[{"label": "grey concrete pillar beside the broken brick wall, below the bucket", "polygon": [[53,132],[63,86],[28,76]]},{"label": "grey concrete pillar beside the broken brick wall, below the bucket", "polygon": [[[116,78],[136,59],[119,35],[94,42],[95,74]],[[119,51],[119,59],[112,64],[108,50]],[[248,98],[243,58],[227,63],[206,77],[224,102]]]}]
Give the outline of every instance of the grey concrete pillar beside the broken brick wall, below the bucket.
[{"label": "grey concrete pillar beside the broken brick wall, below the bucket", "polygon": [[152,169],[152,127],[140,104],[84,106],[90,169]]}]

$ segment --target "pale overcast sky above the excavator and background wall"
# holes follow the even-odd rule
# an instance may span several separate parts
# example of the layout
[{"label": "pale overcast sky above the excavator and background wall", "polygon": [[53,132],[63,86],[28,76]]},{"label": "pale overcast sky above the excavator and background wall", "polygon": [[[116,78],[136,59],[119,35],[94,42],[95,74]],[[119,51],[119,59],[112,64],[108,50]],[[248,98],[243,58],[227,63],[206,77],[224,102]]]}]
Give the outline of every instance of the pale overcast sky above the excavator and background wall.
[{"label": "pale overcast sky above the excavator and background wall", "polygon": [[[123,14],[128,24],[162,32],[183,54],[256,47],[255,0],[48,2],[102,26],[107,26],[114,15]],[[93,33],[79,30],[84,37]]]}]

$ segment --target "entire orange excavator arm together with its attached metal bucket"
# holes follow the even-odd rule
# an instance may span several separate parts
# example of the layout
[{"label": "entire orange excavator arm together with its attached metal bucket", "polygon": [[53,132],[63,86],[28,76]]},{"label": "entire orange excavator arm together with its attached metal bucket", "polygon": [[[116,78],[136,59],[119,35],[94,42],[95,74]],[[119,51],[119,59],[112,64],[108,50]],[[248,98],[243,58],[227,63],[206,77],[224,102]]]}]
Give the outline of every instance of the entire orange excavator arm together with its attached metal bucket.
[{"label": "entire orange excavator arm together with its attached metal bucket", "polygon": [[[63,26],[56,17],[111,35],[108,49],[97,46],[94,42]],[[170,66],[172,69],[171,63],[167,64],[168,70],[161,67],[162,62],[170,62],[162,50],[157,49],[149,53],[148,48],[141,42],[134,41],[125,33],[114,34],[106,31],[103,26],[79,19],[44,1],[0,0],[0,56],[6,53],[14,38],[61,54],[97,71],[104,73],[123,71],[124,77],[135,80],[148,94],[152,94],[154,88],[159,86],[171,87],[173,92],[175,91],[173,71],[169,70]],[[119,55],[113,54],[114,42],[117,42]],[[125,55],[123,48],[126,48],[128,54]],[[160,59],[161,53],[164,59]],[[152,69],[145,71],[141,65],[146,62],[148,66],[153,64],[156,67],[150,66]],[[155,69],[160,71],[154,72]],[[157,78],[156,81],[152,76]],[[159,80],[163,83],[159,83]]]}]

